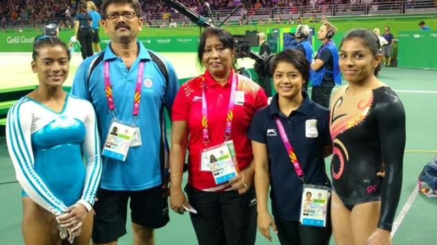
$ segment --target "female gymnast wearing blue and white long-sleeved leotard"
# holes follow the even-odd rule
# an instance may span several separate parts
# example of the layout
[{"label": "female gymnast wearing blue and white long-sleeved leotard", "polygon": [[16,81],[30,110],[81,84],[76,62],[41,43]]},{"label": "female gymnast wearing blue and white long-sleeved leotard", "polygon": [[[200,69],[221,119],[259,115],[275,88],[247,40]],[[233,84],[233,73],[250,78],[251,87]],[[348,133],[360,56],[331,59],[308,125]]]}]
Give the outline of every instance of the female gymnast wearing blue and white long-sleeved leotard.
[{"label": "female gymnast wearing blue and white long-sleeved leotard", "polygon": [[63,238],[89,244],[91,237],[100,143],[92,105],[62,90],[70,58],[60,39],[37,39],[31,66],[39,87],[8,112],[6,139],[23,188],[25,244],[60,244]]}]

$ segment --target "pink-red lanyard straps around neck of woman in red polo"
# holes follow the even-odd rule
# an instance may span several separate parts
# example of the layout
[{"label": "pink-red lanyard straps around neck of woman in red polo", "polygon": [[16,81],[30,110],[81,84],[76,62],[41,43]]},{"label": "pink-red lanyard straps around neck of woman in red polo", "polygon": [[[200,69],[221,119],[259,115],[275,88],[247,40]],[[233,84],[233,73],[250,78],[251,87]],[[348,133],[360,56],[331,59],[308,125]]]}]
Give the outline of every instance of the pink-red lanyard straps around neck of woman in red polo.
[{"label": "pink-red lanyard straps around neck of woman in red polo", "polygon": [[[207,145],[209,143],[209,132],[208,132],[208,113],[207,113],[207,101],[205,96],[205,76],[203,76],[203,89],[202,89],[202,134],[203,134],[203,144]],[[226,116],[226,128],[225,128],[225,140],[229,140],[232,131],[232,118],[234,118],[234,100],[235,91],[237,90],[237,75],[231,73],[229,80],[232,80],[231,92],[229,97],[228,114]]]}]

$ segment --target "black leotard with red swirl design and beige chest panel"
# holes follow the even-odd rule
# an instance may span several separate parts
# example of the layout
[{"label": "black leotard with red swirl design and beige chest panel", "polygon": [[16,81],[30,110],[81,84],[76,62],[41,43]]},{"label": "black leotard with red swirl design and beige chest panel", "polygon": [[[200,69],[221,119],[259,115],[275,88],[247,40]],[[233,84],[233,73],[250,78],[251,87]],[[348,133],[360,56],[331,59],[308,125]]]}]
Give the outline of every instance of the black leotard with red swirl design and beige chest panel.
[{"label": "black leotard with red swirl design and beige chest panel", "polygon": [[[341,87],[331,102],[332,186],[350,210],[382,200],[378,227],[391,230],[402,186],[404,106],[389,87],[357,96],[349,96],[347,88]],[[384,179],[377,176],[383,166]]]}]

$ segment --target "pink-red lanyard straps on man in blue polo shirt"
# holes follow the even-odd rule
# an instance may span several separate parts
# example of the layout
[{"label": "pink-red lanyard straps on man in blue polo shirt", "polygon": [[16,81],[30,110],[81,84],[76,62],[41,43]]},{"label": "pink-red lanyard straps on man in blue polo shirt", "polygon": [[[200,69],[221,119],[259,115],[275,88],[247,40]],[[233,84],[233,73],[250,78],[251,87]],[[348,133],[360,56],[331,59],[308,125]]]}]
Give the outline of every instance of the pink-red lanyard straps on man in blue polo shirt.
[{"label": "pink-red lanyard straps on man in blue polo shirt", "polygon": [[[134,105],[132,115],[134,120],[138,117],[139,114],[139,98],[141,98],[141,85],[143,80],[144,73],[144,62],[139,62],[138,65],[138,74],[137,74],[137,86],[135,87],[135,95],[134,95]],[[112,89],[111,89],[111,81],[110,81],[110,72],[109,72],[109,62],[103,62],[103,77],[105,80],[105,92],[106,99],[108,100],[108,107],[112,116],[115,117],[115,105],[114,98],[112,98]]]}]

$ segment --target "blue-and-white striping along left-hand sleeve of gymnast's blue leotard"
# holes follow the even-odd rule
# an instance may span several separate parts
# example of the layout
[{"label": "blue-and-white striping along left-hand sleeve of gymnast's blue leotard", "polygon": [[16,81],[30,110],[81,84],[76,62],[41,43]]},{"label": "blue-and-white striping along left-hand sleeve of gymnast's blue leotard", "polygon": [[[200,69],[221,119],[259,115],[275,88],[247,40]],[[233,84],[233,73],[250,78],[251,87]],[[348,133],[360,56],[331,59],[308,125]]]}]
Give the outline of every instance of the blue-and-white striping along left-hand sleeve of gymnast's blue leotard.
[{"label": "blue-and-white striping along left-hand sleeve of gymnast's blue leotard", "polygon": [[[14,152],[15,158],[17,159],[17,163],[19,165],[22,174],[26,178],[26,182],[28,185],[37,192],[37,194],[44,200],[46,203],[49,203],[55,210],[62,212],[62,203],[60,200],[55,199],[53,194],[47,190],[46,186],[42,182],[42,180],[37,176],[37,174],[33,171],[33,161],[31,154],[26,146],[26,140],[24,138],[24,134],[22,132],[20,121],[19,121],[19,107],[21,107],[22,102],[17,103],[12,107],[9,114],[8,124],[10,127],[9,137],[12,144],[12,151]],[[13,132],[13,135],[12,135]],[[19,136],[17,135],[19,134]],[[22,140],[22,143],[19,140]],[[19,152],[17,152],[17,149]],[[26,152],[26,156],[24,154]],[[44,193],[45,192],[45,193]]]}]

